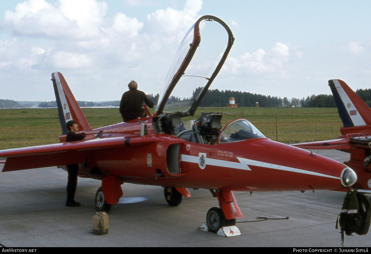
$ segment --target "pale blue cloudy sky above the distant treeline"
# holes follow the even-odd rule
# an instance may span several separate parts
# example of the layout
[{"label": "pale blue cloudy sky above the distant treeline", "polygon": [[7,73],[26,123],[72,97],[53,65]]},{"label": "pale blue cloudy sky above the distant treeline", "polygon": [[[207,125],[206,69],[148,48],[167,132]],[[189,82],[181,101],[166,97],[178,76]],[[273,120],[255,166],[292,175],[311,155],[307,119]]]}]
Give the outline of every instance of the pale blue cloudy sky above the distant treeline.
[{"label": "pale blue cloudy sky above the distant treeline", "polygon": [[234,45],[211,89],[278,97],[331,94],[329,79],[371,88],[371,1],[1,0],[0,99],[119,100],[130,80],[160,93],[181,39],[203,15]]}]

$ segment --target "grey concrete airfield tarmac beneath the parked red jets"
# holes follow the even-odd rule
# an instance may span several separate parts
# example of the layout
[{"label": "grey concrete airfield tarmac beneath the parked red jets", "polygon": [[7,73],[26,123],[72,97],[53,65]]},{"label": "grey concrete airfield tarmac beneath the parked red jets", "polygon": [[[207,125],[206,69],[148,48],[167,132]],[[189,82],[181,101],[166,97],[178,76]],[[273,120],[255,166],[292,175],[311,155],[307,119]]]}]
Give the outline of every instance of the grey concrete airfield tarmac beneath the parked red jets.
[{"label": "grey concrete airfield tarmac beneath the parked red jets", "polygon": [[[278,151],[279,152],[279,151]],[[315,152],[315,151],[313,151]],[[318,152],[318,151],[316,151]],[[340,162],[349,154],[319,151]],[[0,164],[2,170],[3,164]],[[341,247],[335,229],[345,193],[334,191],[234,192],[243,218],[241,235],[222,237],[199,230],[209,208],[208,190],[190,192],[178,207],[167,205],[163,188],[123,184],[121,204],[112,206],[109,232],[94,235],[95,192],[101,182],[79,178],[66,207],[67,172],[56,167],[0,173],[0,244],[4,247]],[[139,202],[133,202],[139,201]],[[263,220],[257,217],[285,218]],[[344,247],[370,247],[371,232],[345,236]]]}]

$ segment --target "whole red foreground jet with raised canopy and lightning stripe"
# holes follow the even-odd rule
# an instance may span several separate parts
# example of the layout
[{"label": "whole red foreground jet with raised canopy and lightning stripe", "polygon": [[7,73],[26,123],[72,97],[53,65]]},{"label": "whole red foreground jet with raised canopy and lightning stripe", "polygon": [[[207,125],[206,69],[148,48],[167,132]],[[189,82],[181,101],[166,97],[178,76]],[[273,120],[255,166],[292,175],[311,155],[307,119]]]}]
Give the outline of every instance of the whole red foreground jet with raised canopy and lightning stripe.
[{"label": "whole red foreground jet with raised canopy and lightning stripe", "polygon": [[[233,42],[223,21],[201,17],[175,55],[154,114],[98,129],[89,126],[62,74],[53,73],[63,129],[60,143],[0,151],[7,158],[3,172],[79,164],[80,177],[102,181],[95,200],[98,211],[118,203],[125,182],[164,187],[171,206],[191,196],[187,188],[210,189],[220,206],[206,215],[212,232],[242,217],[233,191],[332,190],[354,184],[357,175],[351,168],[272,141],[246,119],[223,129],[222,113],[182,121],[194,115]],[[176,97],[189,100],[169,102]],[[65,124],[72,119],[86,133],[85,140],[65,142]]]}]

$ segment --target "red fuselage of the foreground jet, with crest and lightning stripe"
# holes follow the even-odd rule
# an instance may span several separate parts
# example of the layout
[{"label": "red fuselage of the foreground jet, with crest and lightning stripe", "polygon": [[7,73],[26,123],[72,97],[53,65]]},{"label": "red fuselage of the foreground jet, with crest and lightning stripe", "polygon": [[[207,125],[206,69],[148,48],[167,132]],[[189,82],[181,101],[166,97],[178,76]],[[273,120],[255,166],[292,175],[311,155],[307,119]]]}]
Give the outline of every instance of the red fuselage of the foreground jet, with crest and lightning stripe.
[{"label": "red fuselage of the foreground jet, with crest and lightning stripe", "polygon": [[[137,120],[86,132],[86,139],[99,131],[103,131],[101,138],[122,137],[125,146],[91,151],[80,175],[97,179],[115,175],[121,182],[133,184],[235,191],[342,187],[344,164],[300,148],[268,138],[198,144],[154,133],[152,117],[139,120],[147,125],[148,134],[140,135]],[[63,136],[60,139],[63,142]]]}]

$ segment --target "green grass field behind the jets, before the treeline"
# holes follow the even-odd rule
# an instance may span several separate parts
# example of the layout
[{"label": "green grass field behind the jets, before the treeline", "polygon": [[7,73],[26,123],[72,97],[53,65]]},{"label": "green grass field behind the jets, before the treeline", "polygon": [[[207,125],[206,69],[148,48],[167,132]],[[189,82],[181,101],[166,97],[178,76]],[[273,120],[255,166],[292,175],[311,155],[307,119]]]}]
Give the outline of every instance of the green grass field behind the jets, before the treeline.
[{"label": "green grass field behind the jets, before the treeline", "polygon": [[[82,111],[93,129],[122,121],[118,108]],[[226,113],[223,127],[245,118],[267,138],[283,143],[334,139],[342,127],[336,108],[198,108],[197,112],[190,119],[201,112]],[[0,149],[58,143],[60,134],[57,109],[0,109]]]}]

